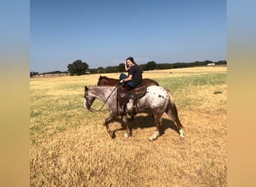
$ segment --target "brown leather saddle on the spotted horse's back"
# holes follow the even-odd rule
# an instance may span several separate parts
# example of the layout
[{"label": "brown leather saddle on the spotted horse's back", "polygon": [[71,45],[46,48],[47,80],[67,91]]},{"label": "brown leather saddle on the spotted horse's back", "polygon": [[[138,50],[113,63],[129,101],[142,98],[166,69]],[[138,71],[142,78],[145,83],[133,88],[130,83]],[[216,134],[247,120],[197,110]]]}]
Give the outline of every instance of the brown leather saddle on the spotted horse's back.
[{"label": "brown leather saddle on the spotted horse's back", "polygon": [[138,85],[135,88],[129,88],[129,86],[120,85],[117,90],[117,105],[120,104],[121,108],[124,109],[124,113],[127,113],[127,103],[129,99],[133,99],[132,103],[132,115],[137,114],[137,103],[138,99],[146,94],[147,86]]}]

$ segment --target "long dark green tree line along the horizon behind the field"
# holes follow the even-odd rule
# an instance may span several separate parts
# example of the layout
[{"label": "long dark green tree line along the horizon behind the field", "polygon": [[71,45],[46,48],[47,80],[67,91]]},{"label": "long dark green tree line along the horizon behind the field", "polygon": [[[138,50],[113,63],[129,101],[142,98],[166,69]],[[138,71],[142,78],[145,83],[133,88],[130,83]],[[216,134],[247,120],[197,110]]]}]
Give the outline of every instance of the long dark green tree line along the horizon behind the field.
[{"label": "long dark green tree line along the horizon behind the field", "polygon": [[[177,63],[159,63],[157,64],[155,61],[149,61],[147,64],[140,64],[139,66],[144,71],[148,70],[168,70],[174,68],[183,68],[183,67],[202,67],[207,66],[207,64],[216,64],[216,65],[227,65],[227,61],[195,61],[195,62],[177,62]],[[67,65],[67,71],[53,71],[48,73],[37,73],[30,72],[30,76],[39,76],[45,74],[69,74],[70,76],[81,76],[85,74],[95,74],[95,73],[121,73],[124,72],[124,63],[119,64],[118,66],[112,67],[98,67],[98,68],[89,68],[88,63],[83,62],[81,60],[76,60],[72,64]]]}]

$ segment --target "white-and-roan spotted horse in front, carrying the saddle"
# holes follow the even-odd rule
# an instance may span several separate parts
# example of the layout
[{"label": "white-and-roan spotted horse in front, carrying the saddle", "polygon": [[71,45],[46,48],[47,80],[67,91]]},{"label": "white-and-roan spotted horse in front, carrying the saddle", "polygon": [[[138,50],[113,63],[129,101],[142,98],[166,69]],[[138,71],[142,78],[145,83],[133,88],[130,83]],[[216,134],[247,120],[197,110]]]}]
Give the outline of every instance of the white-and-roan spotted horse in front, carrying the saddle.
[{"label": "white-and-roan spotted horse in front, carrying the saddle", "polygon": [[[117,94],[117,87],[94,86],[88,88],[85,86],[84,107],[89,111],[94,111],[94,109],[91,108],[94,100],[99,99],[103,101],[104,105],[106,105],[109,110],[109,117],[106,118],[104,123],[107,132],[112,138],[114,138],[114,133],[109,128],[109,123],[111,120],[114,120],[116,117],[121,115],[123,123],[126,126],[126,133],[124,134],[124,137],[127,138],[132,135],[127,120],[127,113],[132,113],[132,99],[129,99],[129,102],[126,105],[127,112],[124,112],[122,106],[117,100]],[[177,108],[170,91],[166,91],[165,88],[156,85],[148,86],[145,95],[138,99],[138,113],[145,111],[147,108],[150,108],[153,112],[156,123],[156,132],[148,138],[150,141],[156,140],[160,135],[159,131],[162,128],[162,114],[164,112],[168,114],[168,117],[170,117],[174,123],[176,123],[177,130],[180,133],[180,138],[184,138],[183,126],[180,123]]]}]

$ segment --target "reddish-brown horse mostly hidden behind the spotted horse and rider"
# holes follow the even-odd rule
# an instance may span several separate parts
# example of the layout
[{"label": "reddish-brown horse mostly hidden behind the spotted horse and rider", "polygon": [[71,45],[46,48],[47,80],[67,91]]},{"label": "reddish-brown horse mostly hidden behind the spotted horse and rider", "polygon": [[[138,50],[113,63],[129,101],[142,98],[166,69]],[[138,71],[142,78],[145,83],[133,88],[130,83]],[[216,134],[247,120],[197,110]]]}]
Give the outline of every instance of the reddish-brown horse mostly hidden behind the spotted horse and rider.
[{"label": "reddish-brown horse mostly hidden behind the spotted horse and rider", "polygon": [[[107,76],[100,76],[97,82],[98,86],[115,86],[118,85],[118,83],[120,82],[119,79],[113,79],[113,78],[109,78]],[[156,82],[153,79],[142,79],[142,83],[141,85],[156,85],[159,86],[158,82]]]}]

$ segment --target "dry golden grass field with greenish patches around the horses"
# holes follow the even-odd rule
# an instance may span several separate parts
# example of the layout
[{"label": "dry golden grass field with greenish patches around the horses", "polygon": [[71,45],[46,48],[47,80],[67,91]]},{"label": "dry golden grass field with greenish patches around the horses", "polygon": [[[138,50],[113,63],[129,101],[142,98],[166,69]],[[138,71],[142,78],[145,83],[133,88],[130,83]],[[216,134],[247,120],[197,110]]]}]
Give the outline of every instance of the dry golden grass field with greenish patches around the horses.
[{"label": "dry golden grass field with greenish patches around the horses", "polygon": [[85,85],[99,76],[30,79],[31,186],[227,186],[227,67],[143,73],[171,90],[185,127],[180,139],[164,114],[156,141],[147,140],[156,125],[146,113],[129,119],[132,137],[124,138],[121,119],[109,137],[108,111],[83,107]]}]

